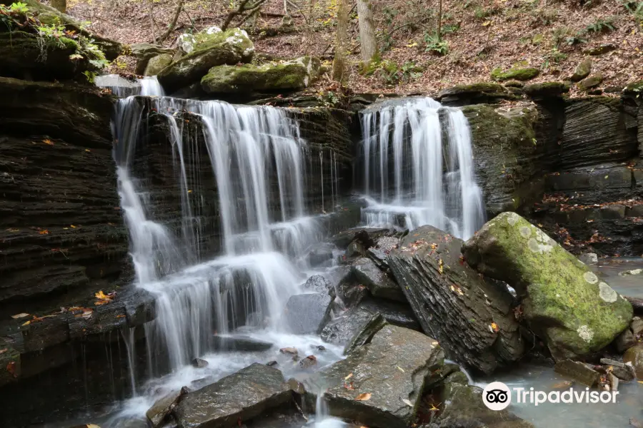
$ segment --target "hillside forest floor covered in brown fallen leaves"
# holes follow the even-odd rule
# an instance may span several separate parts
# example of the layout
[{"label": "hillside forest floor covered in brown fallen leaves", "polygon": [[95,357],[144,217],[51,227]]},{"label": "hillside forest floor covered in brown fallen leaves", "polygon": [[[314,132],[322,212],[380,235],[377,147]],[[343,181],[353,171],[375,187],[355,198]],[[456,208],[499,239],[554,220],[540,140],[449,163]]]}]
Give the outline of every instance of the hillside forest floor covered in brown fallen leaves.
[{"label": "hillside forest floor covered in brown fallen leaves", "polygon": [[[231,0],[233,2],[234,0]],[[294,32],[252,36],[256,51],[279,58],[304,54],[332,60],[337,0],[298,0],[289,6]],[[491,81],[494,68],[530,66],[541,70],[534,82],[562,81],[587,57],[587,50],[612,45],[613,51],[591,56],[592,72],[602,88],[622,88],[643,80],[643,0],[443,0],[443,55],[436,48],[438,0],[372,0],[382,60],[388,67],[364,76],[359,56],[357,13],[349,33],[352,54],[347,86],[355,93],[435,93],[457,84]],[[229,1],[187,0],[179,34],[220,25]],[[97,33],[125,44],[152,41],[174,14],[176,0],[68,0],[68,13],[91,21]],[[637,14],[637,8],[639,12]],[[279,29],[284,1],[268,0],[254,29]],[[393,65],[392,65],[393,64]],[[134,58],[121,57],[114,70],[131,73]],[[315,89],[330,85],[325,76]],[[572,88],[572,96],[577,93]]]}]

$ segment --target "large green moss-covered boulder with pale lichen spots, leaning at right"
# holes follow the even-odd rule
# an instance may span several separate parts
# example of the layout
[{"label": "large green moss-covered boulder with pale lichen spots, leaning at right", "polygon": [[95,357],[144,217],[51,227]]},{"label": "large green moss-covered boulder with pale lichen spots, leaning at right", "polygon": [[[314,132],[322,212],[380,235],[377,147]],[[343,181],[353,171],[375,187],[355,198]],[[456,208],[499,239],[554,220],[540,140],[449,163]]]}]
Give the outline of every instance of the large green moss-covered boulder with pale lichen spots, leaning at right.
[{"label": "large green moss-covered boulder with pale lichen spots, leaning at right", "polygon": [[609,345],[632,320],[632,305],[542,230],[502,213],[464,244],[479,272],[514,287],[524,317],[556,360]]}]

